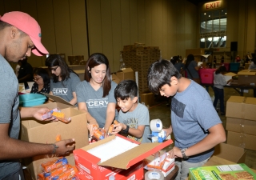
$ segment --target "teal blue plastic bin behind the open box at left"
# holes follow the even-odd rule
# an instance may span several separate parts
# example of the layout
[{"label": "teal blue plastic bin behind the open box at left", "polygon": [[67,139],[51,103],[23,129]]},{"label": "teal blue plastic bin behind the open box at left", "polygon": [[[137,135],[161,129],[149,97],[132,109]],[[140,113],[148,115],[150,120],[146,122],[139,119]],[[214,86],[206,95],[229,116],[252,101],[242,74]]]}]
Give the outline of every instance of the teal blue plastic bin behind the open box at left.
[{"label": "teal blue plastic bin behind the open box at left", "polygon": [[38,106],[46,102],[46,96],[42,94],[21,94],[18,96],[19,106]]}]

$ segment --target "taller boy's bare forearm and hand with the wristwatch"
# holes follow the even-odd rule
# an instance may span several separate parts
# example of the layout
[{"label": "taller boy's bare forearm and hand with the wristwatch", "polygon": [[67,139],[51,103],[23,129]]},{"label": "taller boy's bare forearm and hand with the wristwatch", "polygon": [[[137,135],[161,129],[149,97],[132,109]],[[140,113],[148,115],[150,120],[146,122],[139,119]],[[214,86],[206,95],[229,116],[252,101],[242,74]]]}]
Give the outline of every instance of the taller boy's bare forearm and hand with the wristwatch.
[{"label": "taller boy's bare forearm and hand with the wristwatch", "polygon": [[[226,133],[221,123],[210,127],[208,131],[209,134],[206,136],[206,138],[203,138],[202,141],[194,144],[194,146],[190,146],[186,150],[186,156],[190,157],[195,154],[200,154],[206,150],[210,150],[219,143],[226,141]],[[174,146],[174,148],[170,150],[169,153],[170,158],[182,158],[182,152],[176,146]]]}]

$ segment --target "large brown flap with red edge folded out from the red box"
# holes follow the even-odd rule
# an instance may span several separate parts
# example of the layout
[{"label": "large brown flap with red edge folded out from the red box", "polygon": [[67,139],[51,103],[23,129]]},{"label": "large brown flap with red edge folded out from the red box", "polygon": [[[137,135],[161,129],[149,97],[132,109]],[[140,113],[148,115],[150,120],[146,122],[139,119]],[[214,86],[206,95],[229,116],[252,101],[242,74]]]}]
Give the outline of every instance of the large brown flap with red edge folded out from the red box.
[{"label": "large brown flap with red edge folded out from the red box", "polygon": [[151,154],[156,153],[158,150],[162,150],[171,143],[173,143],[171,139],[162,143],[144,143],[134,147],[131,150],[127,150],[114,158],[110,158],[106,162],[99,163],[98,165],[111,166],[127,170],[130,166],[142,161]]}]

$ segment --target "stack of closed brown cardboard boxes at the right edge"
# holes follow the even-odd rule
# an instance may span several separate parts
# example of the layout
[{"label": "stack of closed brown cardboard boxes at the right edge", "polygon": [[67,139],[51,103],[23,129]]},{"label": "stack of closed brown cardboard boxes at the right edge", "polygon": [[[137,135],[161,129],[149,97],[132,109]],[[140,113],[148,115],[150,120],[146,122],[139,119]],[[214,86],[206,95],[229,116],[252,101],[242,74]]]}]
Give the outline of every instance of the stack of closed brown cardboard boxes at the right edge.
[{"label": "stack of closed brown cardboard boxes at the right edge", "polygon": [[256,98],[231,96],[226,102],[227,143],[256,150]]}]

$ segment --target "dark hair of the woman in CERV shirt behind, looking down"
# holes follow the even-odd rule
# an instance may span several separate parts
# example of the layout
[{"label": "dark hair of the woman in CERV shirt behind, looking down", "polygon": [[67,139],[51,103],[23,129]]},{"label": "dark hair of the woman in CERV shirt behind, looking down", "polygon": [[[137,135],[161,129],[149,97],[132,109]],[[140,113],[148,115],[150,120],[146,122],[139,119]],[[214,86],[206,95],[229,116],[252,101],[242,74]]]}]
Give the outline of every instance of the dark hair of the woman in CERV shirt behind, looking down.
[{"label": "dark hair of the woman in CERV shirt behind, looking down", "polygon": [[[53,66],[60,66],[61,67],[61,74],[62,82],[65,81],[67,78],[70,78],[70,72],[74,72],[71,70],[70,67],[66,64],[64,59],[59,54],[50,54],[48,58],[46,58],[46,66],[53,67]],[[78,76],[78,74],[76,74]],[[58,82],[58,77],[55,74],[52,74],[54,82]],[[79,77],[79,76],[78,76]]]}]

